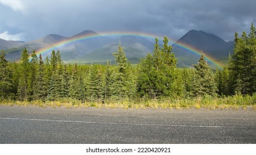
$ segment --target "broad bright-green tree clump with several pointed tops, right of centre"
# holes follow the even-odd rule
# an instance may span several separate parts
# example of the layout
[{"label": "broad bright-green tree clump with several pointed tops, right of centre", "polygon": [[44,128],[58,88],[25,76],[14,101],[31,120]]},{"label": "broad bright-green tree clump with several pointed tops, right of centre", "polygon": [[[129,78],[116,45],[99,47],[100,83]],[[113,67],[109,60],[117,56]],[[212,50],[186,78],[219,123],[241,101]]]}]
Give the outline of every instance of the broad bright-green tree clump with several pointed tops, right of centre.
[{"label": "broad bright-green tree clump with several pointed tops, right of centre", "polygon": [[141,59],[137,90],[145,97],[183,96],[184,84],[180,71],[176,67],[177,59],[168,45],[168,38],[163,39],[159,47],[156,38],[153,56],[148,54]]}]

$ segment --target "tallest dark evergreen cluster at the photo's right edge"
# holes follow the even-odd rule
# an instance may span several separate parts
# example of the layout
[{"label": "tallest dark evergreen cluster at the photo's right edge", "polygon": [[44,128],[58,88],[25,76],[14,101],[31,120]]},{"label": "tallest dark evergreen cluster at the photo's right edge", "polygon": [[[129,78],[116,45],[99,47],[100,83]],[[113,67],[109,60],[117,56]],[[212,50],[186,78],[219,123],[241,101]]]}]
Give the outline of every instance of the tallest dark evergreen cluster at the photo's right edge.
[{"label": "tallest dark evergreen cluster at the photo's right edge", "polygon": [[232,94],[252,95],[256,91],[256,39],[253,24],[248,37],[245,32],[241,38],[235,33],[234,41],[234,53],[229,61]]}]

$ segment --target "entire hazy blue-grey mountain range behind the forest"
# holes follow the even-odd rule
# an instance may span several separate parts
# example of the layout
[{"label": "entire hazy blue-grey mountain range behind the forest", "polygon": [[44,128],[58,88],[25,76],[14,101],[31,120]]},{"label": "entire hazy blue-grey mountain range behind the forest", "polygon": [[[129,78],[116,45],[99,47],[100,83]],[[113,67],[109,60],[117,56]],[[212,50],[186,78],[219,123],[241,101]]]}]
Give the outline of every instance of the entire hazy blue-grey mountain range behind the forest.
[{"label": "entire hazy blue-grey mountain range behind the forest", "polygon": [[[54,49],[60,50],[62,60],[65,62],[104,63],[107,60],[115,60],[112,53],[116,53],[120,41],[126,57],[132,63],[139,63],[140,58],[144,58],[148,53],[153,53],[154,43],[144,37],[124,35],[120,36],[120,38],[109,38],[101,36],[92,30],[85,30],[71,37],[49,34],[28,43],[1,39],[0,47],[6,51],[6,58],[10,61],[19,60],[22,50],[27,48],[30,54],[33,49],[35,51],[49,49],[48,52],[40,51],[44,53],[43,58],[46,55],[50,55],[50,51]],[[197,64],[199,59],[199,55],[194,54],[188,48],[197,49],[197,53],[202,50],[206,56],[226,63],[229,52],[232,53],[234,42],[225,42],[216,35],[202,30],[190,30],[172,46],[172,51],[178,59],[178,67],[184,67]]]}]

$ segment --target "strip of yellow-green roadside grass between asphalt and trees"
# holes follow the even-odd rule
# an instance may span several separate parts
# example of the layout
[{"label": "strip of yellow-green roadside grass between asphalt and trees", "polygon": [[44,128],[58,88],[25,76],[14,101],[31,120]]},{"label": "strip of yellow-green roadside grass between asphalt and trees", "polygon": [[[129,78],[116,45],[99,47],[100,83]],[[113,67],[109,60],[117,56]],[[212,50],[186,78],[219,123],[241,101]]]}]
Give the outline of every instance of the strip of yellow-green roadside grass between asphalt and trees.
[{"label": "strip of yellow-green roadside grass between asphalt and trees", "polygon": [[80,100],[70,98],[59,99],[57,101],[33,100],[33,101],[15,101],[15,100],[1,100],[1,105],[18,105],[18,106],[39,106],[39,107],[65,107],[65,108],[86,108],[86,107],[106,107],[106,108],[163,108],[163,109],[187,109],[187,108],[208,108],[208,109],[252,109],[256,111],[256,95],[234,95],[223,97],[196,97],[183,99],[137,99],[137,100],[106,100],[103,104],[101,101],[81,103]]}]

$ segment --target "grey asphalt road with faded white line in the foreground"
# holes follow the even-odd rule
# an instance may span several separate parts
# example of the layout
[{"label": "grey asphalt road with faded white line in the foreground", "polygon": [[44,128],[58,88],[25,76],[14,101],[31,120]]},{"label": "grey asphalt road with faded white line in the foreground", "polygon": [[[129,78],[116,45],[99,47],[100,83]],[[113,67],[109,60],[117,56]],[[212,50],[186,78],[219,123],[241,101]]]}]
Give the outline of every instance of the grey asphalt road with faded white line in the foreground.
[{"label": "grey asphalt road with faded white line in the foreground", "polygon": [[0,106],[0,143],[256,143],[253,110]]}]

